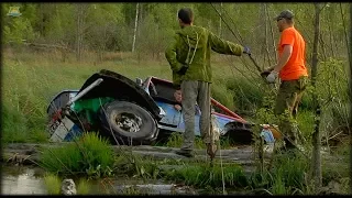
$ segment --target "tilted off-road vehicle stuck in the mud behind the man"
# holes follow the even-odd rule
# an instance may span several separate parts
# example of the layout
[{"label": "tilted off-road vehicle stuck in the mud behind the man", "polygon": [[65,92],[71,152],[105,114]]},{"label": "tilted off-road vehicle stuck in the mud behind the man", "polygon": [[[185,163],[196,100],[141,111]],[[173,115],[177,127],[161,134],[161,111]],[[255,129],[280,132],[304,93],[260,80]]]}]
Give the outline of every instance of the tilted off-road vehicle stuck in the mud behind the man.
[{"label": "tilted off-road vehicle stuck in the mud behind the man", "polygon": [[[72,141],[82,132],[99,131],[113,144],[152,144],[185,123],[175,87],[168,80],[147,77],[135,81],[102,69],[90,76],[79,90],[62,90],[47,107],[52,142]],[[212,129],[231,141],[252,141],[252,123],[211,99]],[[195,134],[200,136],[200,110],[195,109]]]}]

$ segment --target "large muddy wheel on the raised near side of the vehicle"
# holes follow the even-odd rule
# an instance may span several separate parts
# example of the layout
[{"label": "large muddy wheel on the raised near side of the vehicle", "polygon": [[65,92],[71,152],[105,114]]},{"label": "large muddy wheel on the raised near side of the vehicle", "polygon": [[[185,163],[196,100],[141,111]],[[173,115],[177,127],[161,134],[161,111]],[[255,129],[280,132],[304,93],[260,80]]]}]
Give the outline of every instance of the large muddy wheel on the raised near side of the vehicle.
[{"label": "large muddy wheel on the raised near side of the vehicle", "polygon": [[151,144],[158,134],[148,111],[128,101],[112,101],[99,110],[102,133],[119,144]]}]

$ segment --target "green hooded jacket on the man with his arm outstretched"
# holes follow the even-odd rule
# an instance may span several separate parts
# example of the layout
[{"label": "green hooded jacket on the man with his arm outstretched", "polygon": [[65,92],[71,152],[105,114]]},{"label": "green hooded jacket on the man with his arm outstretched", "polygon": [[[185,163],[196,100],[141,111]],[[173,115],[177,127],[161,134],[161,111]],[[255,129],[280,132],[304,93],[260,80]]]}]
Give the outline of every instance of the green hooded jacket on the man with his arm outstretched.
[{"label": "green hooded jacket on the man with his arm outstretched", "polygon": [[[211,82],[210,50],[219,54],[243,54],[243,46],[221,40],[207,29],[191,25],[177,31],[165,52],[174,84],[180,85],[182,80]],[[183,65],[188,65],[188,69],[180,76],[177,72]]]}]

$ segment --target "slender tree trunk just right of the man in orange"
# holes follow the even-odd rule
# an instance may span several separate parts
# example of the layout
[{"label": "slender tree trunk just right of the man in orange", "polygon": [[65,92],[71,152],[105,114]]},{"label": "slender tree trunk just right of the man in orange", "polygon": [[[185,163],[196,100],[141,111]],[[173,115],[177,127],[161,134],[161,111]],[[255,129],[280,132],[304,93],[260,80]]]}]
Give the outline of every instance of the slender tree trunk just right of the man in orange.
[{"label": "slender tree trunk just right of the man in orange", "polygon": [[315,16],[315,40],[312,46],[312,63],[311,63],[311,84],[315,88],[314,91],[314,103],[316,109],[316,117],[315,117],[315,129],[312,133],[312,156],[311,156],[311,173],[310,177],[312,180],[314,190],[317,191],[321,187],[321,136],[319,131],[320,125],[320,105],[318,101],[318,95],[316,90],[316,78],[317,78],[317,70],[318,70],[318,45],[319,45],[319,35],[320,35],[320,7],[319,3],[315,3],[316,16]]}]

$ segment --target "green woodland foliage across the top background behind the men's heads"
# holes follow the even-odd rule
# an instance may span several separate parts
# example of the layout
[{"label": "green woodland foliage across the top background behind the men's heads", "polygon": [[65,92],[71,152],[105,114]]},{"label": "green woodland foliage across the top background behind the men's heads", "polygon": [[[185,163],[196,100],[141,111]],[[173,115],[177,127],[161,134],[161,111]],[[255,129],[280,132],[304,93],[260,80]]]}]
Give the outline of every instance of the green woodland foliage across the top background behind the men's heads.
[{"label": "green woodland foliage across the top background behind the men's heads", "polygon": [[[11,6],[19,6],[22,15],[11,19],[7,15]],[[133,28],[135,20],[135,3],[88,3],[85,11],[84,34],[86,47],[106,51],[131,51]],[[263,56],[264,47],[275,53],[275,42],[278,32],[275,22],[272,22],[278,12],[290,9],[296,15],[296,26],[308,43],[308,59],[310,59],[314,26],[312,4],[310,3],[212,3],[228,25],[237,34],[235,37],[228,25],[222,22],[210,3],[140,3],[138,42],[140,52],[152,51],[151,54],[163,53],[168,44],[169,36],[178,29],[177,10],[190,7],[195,12],[195,24],[208,28],[217,35],[252,46],[256,55]],[[266,7],[266,11],[264,9]],[[342,3],[344,22],[348,16],[348,3]],[[72,48],[76,46],[77,13],[76,4],[68,3],[3,3],[2,15],[4,19],[4,41],[28,40],[36,35],[37,41],[44,43],[66,43]],[[255,13],[255,14],[253,14]],[[340,56],[344,46],[343,21],[339,3],[328,3],[322,12],[321,36],[327,48],[328,57]],[[336,16],[331,16],[336,15]],[[13,21],[18,21],[13,23]],[[263,34],[263,32],[265,32]],[[150,32],[156,33],[155,35]],[[30,34],[29,34],[30,33]],[[275,41],[272,41],[272,36]],[[263,37],[266,35],[266,37]],[[148,37],[148,38],[146,38]],[[265,43],[267,41],[267,43]],[[157,45],[156,48],[148,44]],[[154,43],[153,43],[154,42]],[[242,43],[243,42],[243,43]],[[273,46],[274,44],[274,46]],[[98,47],[98,48],[97,48]],[[328,50],[329,48],[329,50]],[[342,53],[343,54],[343,53]],[[310,63],[308,61],[308,63]],[[265,64],[265,63],[263,63]]]}]

